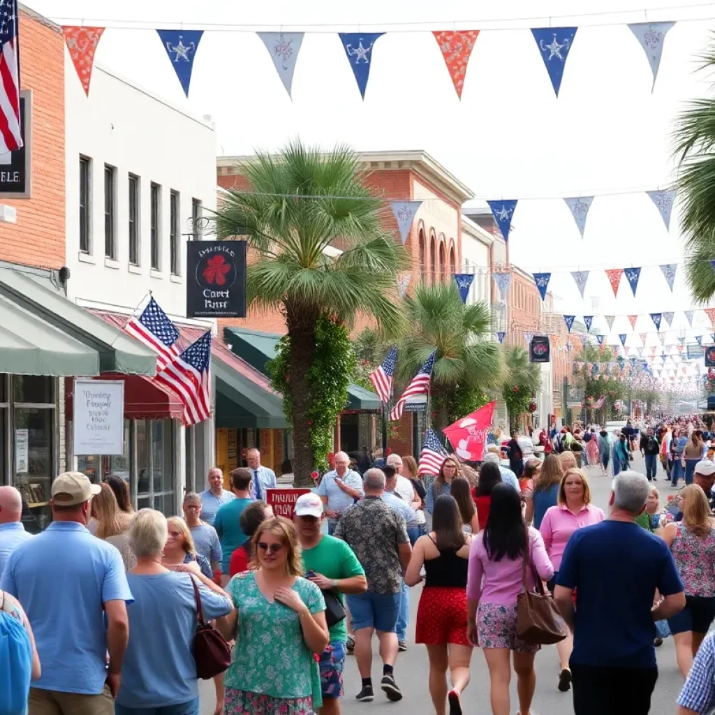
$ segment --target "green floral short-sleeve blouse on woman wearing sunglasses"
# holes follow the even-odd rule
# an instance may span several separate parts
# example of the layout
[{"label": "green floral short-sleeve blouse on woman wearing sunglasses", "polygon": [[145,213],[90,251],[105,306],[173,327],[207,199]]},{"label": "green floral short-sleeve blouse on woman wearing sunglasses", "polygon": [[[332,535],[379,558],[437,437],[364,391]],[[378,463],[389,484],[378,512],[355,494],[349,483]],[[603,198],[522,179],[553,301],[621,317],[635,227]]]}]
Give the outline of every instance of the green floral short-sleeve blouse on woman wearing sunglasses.
[{"label": "green floral short-sleeve blouse on woman wearing sunglasses", "polygon": [[[325,611],[315,583],[296,578],[292,588],[310,613]],[[312,694],[315,659],[303,640],[298,614],[279,601],[267,601],[256,584],[255,571],[234,576],[226,591],[237,605],[238,627],[225,685],[273,698]]]}]

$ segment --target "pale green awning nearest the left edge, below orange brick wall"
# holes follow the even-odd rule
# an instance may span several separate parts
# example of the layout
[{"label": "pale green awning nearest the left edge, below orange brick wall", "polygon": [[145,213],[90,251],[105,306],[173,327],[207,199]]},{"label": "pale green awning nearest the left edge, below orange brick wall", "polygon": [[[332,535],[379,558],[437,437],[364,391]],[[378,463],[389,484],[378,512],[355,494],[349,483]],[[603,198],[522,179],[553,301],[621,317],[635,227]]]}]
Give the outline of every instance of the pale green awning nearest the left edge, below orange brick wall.
[{"label": "pale green awning nearest the left edge, below orange brick wall", "polygon": [[98,375],[99,355],[0,295],[0,373]]}]

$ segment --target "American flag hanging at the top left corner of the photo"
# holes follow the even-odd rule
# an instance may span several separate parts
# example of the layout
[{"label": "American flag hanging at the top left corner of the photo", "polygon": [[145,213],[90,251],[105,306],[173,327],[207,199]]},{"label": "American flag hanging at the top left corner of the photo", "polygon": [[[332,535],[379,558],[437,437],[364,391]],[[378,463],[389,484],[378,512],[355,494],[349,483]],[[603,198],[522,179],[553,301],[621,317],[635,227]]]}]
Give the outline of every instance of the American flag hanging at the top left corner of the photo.
[{"label": "American flag hanging at the top left corner of the photo", "polygon": [[17,0],[0,0],[0,154],[21,146]]}]

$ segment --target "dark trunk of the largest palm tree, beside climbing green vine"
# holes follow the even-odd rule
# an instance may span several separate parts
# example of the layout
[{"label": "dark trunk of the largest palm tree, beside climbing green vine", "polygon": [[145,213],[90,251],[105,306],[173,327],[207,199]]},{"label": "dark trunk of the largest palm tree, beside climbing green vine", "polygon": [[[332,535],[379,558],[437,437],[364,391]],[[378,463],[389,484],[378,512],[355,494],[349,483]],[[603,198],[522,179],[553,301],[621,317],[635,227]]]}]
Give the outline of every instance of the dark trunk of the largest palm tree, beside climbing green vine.
[{"label": "dark trunk of the largest palm tree, beside climbing green vine", "polygon": [[315,325],[317,314],[305,307],[286,306],[286,322],[290,336],[290,397],[293,404],[293,474],[295,486],[312,486],[315,468],[308,409],[312,390],[308,380],[310,366],[315,356]]}]

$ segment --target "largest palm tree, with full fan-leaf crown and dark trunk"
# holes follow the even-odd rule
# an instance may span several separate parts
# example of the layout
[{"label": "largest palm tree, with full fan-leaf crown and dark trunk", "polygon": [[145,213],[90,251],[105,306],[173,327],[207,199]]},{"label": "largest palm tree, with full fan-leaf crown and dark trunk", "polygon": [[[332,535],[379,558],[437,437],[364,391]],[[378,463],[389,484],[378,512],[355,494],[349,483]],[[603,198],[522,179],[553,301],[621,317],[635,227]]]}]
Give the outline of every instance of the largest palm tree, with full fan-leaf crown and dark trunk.
[{"label": "largest palm tree, with full fan-leaf crown and dark trunk", "polygon": [[[221,240],[245,237],[257,253],[247,270],[248,305],[285,316],[294,468],[305,483],[315,468],[307,415],[328,389],[309,379],[318,322],[329,317],[349,327],[368,314],[397,331],[404,253],[383,230],[383,201],[365,186],[351,149],[322,153],[294,141],[279,154],[259,152],[241,171],[250,188],[225,194],[215,230]],[[330,247],[342,252],[331,257]]]}]

